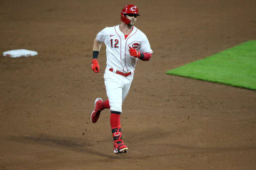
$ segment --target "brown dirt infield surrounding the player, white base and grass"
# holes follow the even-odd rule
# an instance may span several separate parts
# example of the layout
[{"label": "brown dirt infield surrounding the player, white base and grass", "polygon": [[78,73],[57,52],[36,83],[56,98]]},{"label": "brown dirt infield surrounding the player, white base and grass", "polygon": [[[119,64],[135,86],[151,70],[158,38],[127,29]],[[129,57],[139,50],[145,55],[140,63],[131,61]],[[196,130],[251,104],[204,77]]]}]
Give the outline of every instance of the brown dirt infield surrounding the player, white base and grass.
[{"label": "brown dirt infield surrounding the player, white base and grass", "polygon": [[[137,63],[121,115],[129,151],[113,153],[109,111],[92,124],[103,71],[95,35],[120,23],[125,2],[0,0],[0,170],[256,169],[256,92],[167,75],[256,39],[256,1],[131,1],[154,54]],[[127,2],[126,2],[127,3]]]}]

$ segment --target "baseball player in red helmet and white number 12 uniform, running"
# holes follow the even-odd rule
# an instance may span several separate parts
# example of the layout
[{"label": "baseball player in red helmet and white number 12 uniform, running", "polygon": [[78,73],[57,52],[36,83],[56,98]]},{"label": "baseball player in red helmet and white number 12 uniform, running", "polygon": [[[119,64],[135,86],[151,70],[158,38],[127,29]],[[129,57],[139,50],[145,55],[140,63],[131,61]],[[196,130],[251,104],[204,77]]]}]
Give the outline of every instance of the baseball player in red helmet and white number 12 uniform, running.
[{"label": "baseball player in red helmet and white number 12 uniform, running", "polygon": [[96,123],[103,109],[110,109],[110,126],[114,138],[114,153],[126,152],[128,147],[122,140],[120,115],[135,72],[138,59],[148,61],[153,53],[146,35],[134,23],[139,16],[138,7],[125,5],[121,11],[121,24],[101,30],[93,43],[91,69],[98,73],[98,55],[101,44],[106,45],[107,66],[104,74],[108,99],[95,99],[92,123]]}]

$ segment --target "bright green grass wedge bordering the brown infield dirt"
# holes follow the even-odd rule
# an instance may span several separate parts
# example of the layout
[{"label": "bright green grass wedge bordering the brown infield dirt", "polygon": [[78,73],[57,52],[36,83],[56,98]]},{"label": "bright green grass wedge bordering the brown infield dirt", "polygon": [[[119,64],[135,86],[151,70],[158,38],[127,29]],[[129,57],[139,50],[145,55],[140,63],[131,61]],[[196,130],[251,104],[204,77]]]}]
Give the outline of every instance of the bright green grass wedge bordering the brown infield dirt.
[{"label": "bright green grass wedge bordering the brown infield dirt", "polygon": [[166,74],[256,90],[256,40],[169,70]]}]

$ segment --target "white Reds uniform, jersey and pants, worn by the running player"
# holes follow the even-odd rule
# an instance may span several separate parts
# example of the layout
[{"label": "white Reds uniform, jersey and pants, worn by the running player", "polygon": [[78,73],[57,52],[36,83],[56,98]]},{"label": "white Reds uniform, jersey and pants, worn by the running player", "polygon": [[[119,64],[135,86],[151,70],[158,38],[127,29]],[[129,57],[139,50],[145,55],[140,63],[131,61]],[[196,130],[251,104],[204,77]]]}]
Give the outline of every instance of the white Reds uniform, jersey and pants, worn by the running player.
[{"label": "white Reds uniform, jersey and pants, worn by the running player", "polygon": [[[106,27],[97,34],[97,41],[106,45],[107,67],[104,79],[110,111],[122,112],[122,103],[129,92],[138,60],[130,55],[129,46],[141,53],[151,54],[153,51],[147,36],[134,26],[126,38],[119,30],[119,25]],[[116,74],[116,71],[131,74],[124,77]]]}]

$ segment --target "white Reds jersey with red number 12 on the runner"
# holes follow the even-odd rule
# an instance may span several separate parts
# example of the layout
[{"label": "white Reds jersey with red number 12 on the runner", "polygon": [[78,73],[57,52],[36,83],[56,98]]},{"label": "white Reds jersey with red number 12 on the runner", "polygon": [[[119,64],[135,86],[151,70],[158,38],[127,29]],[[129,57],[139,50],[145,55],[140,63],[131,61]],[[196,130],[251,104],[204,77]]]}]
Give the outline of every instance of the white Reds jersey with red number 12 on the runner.
[{"label": "white Reds jersey with red number 12 on the runner", "polygon": [[135,70],[138,58],[130,55],[129,46],[141,53],[153,53],[147,36],[134,26],[126,39],[119,30],[119,25],[106,27],[97,34],[97,41],[106,45],[108,69],[122,72]]}]

